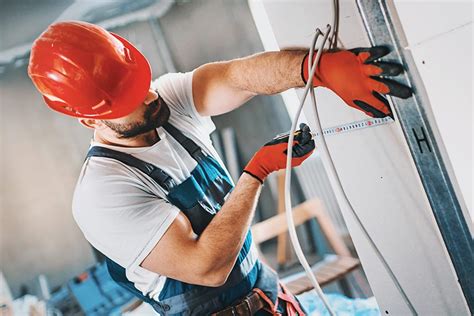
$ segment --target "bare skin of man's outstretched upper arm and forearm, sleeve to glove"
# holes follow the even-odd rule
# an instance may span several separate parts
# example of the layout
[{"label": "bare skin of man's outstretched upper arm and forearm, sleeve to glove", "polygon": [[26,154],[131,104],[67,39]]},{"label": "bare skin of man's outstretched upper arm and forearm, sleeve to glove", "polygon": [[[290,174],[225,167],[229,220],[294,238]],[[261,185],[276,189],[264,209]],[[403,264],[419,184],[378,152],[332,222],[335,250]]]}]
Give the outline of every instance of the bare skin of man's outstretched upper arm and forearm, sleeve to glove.
[{"label": "bare skin of man's outstretched upper arm and forearm, sleeve to glove", "polygon": [[193,76],[193,98],[202,115],[232,111],[258,94],[275,94],[304,85],[301,62],[307,51],[265,52],[205,64]]}]

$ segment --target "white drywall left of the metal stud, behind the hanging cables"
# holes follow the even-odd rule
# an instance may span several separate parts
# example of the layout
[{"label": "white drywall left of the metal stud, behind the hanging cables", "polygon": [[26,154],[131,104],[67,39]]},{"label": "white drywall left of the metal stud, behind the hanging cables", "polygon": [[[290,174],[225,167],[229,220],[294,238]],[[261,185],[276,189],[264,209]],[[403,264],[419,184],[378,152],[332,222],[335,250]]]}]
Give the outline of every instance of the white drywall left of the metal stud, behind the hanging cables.
[{"label": "white drywall left of the metal stud, behind the hanging cables", "polygon": [[[307,47],[315,28],[323,28],[332,21],[331,1],[249,3],[257,27],[259,24],[271,26],[272,36],[265,37],[264,32],[261,33],[265,47]],[[368,46],[355,3],[340,1],[340,7],[342,46]],[[365,118],[326,89],[318,89],[316,97],[323,128]],[[294,108],[297,104],[287,106]],[[313,115],[309,102],[305,116],[311,126]],[[327,141],[354,210],[416,311],[422,315],[468,315],[454,268],[398,122],[329,136]],[[342,213],[382,313],[408,315],[409,309],[350,210],[342,208]]]}]

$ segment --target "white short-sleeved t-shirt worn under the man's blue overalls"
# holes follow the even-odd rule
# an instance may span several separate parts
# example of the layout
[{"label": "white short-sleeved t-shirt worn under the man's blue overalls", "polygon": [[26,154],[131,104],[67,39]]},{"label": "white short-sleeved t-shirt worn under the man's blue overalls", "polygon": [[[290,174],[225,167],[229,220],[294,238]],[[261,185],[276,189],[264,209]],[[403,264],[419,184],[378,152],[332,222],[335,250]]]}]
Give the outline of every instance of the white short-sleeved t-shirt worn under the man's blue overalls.
[{"label": "white short-sleeved t-shirt worn under the man's blue overalls", "polygon": [[[209,134],[210,117],[201,116],[192,96],[193,73],[166,74],[153,81],[170,108],[170,123],[191,138],[223,166]],[[125,152],[166,171],[178,183],[189,177],[196,161],[163,128],[160,141],[150,147],[124,148]],[[150,177],[117,160],[92,157],[84,164],[73,198],[73,216],[85,238],[104,255],[126,269],[127,278],[144,295],[158,299],[166,277],[140,267],[176,218],[179,209]]]}]

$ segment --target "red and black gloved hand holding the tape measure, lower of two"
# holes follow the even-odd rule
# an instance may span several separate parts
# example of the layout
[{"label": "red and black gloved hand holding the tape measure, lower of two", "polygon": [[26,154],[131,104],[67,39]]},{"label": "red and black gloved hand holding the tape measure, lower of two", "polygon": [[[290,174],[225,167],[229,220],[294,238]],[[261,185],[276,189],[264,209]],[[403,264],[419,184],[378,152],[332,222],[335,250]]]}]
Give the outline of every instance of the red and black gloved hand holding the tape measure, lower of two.
[{"label": "red and black gloved hand holding the tape measure, lower of two", "polygon": [[[285,169],[288,138],[289,134],[276,136],[270,142],[263,145],[244,168],[244,172],[263,183],[265,178],[273,171]],[[303,123],[300,124],[300,129],[295,132],[293,140],[291,166],[301,165],[311,155],[314,148],[314,140],[312,139],[309,126]]]}]

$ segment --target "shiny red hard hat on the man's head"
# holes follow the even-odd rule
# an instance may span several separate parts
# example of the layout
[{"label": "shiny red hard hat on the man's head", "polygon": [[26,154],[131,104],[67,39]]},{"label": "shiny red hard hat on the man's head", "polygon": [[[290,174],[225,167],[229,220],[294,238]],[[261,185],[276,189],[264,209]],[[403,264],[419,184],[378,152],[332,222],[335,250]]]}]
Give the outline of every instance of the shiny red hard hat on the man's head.
[{"label": "shiny red hard hat on the man's head", "polygon": [[151,83],[150,65],[132,44],[79,21],[52,24],[35,40],[28,75],[50,108],[93,119],[132,113]]}]

